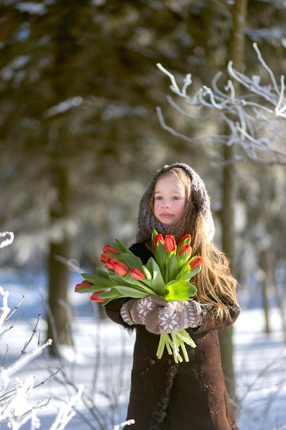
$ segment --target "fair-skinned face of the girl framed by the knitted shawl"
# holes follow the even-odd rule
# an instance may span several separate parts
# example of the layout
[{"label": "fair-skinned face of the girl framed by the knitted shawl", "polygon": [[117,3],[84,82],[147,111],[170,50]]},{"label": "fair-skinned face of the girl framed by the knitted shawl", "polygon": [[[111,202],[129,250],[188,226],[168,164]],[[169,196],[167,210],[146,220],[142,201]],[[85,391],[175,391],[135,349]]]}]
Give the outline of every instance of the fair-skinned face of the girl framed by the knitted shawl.
[{"label": "fair-skinned face of the girl framed by the knitted shawl", "polygon": [[178,223],[186,205],[184,186],[173,173],[159,177],[154,190],[153,212],[160,223]]}]

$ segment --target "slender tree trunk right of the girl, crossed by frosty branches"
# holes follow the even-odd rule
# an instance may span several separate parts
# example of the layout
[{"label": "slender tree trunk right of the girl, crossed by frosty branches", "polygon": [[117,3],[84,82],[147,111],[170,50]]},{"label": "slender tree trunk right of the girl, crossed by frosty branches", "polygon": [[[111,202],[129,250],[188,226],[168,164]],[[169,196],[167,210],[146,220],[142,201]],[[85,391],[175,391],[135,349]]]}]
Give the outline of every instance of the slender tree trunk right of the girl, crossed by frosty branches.
[{"label": "slender tree trunk right of the girl, crossed by frosty branches", "polygon": [[[237,71],[243,71],[245,52],[245,34],[247,15],[247,0],[237,0],[233,5],[233,35],[230,43],[229,58]],[[238,86],[235,84],[238,93]],[[224,146],[224,160],[222,188],[222,249],[230,259],[230,267],[235,273],[235,199],[237,195],[236,166],[232,163],[235,158],[235,148]],[[219,342],[222,354],[222,367],[226,379],[226,388],[233,402],[236,403],[235,371],[233,366],[233,328],[219,332]]]}]

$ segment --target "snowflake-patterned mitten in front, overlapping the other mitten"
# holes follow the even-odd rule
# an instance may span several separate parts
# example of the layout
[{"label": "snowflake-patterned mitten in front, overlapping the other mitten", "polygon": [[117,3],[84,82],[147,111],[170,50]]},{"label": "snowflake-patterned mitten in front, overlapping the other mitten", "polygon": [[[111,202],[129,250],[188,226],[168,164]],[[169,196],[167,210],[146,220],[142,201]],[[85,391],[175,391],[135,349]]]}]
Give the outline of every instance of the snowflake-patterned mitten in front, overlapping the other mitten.
[{"label": "snowflake-patterned mitten in front, overlapping the other mitten", "polygon": [[170,306],[155,308],[145,317],[145,326],[149,332],[160,335],[195,328],[202,321],[202,307],[200,303],[171,302]]}]

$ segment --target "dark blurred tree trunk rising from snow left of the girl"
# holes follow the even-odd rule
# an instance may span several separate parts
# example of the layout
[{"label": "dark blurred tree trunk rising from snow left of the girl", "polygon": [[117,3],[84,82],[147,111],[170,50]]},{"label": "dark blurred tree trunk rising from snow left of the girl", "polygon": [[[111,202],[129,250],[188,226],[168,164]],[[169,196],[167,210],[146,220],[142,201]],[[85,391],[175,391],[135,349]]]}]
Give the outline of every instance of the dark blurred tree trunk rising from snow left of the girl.
[{"label": "dark blurred tree trunk rising from snow left of the girl", "polygon": [[[69,345],[68,329],[68,297],[67,286],[69,272],[60,258],[69,258],[69,238],[64,231],[64,220],[68,213],[69,183],[64,157],[60,153],[51,157],[51,181],[58,193],[51,207],[51,229],[59,231],[58,237],[53,237],[49,244],[49,303],[48,303],[48,338],[53,339],[49,352],[58,354],[59,345]],[[58,226],[56,226],[58,224]]]}]

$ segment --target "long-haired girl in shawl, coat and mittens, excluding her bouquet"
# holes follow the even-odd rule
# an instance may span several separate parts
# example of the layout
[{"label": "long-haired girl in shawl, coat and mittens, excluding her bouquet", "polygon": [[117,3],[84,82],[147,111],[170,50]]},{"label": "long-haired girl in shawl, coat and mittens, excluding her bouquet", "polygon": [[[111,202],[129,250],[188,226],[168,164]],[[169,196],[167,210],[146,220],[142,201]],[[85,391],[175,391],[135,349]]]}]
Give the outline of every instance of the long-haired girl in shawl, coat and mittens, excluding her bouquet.
[{"label": "long-haired girl in shawl, coat and mittens, excluding her bouquet", "polygon": [[[153,229],[177,241],[191,234],[193,251],[204,262],[191,302],[151,296],[117,299],[106,306],[110,319],[136,328],[127,418],[135,420],[134,430],[239,429],[224,384],[217,335],[239,315],[237,282],[224,253],[213,243],[215,228],[204,182],[184,163],[157,172],[143,195],[139,231],[130,248],[143,264],[152,256]],[[156,359],[158,335],[170,332],[166,320],[171,331],[186,328],[195,341],[196,348],[187,346],[189,362],[174,363],[167,352]]]}]

